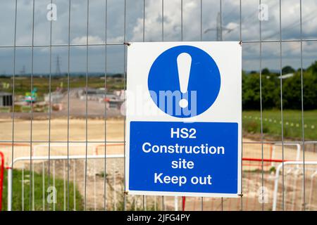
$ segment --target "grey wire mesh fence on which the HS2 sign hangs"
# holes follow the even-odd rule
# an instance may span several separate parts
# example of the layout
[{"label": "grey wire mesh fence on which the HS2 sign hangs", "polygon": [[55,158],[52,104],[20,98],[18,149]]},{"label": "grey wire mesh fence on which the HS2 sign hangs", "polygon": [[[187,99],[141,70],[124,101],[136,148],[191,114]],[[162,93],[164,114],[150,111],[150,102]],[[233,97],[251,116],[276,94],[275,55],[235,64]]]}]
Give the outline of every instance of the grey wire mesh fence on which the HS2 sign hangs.
[{"label": "grey wire mesh fence on which the HS2 sign hangs", "polygon": [[[1,1],[2,210],[317,210],[317,5],[290,2]],[[241,41],[240,198],[125,193],[130,41]]]}]

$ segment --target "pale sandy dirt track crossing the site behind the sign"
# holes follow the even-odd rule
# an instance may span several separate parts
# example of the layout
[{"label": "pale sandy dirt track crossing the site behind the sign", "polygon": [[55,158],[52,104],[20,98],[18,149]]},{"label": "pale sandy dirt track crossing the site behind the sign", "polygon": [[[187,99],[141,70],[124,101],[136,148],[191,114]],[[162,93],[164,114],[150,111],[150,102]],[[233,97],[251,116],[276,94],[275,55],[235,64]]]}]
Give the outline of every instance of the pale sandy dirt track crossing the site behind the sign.
[{"label": "pale sandy dirt track crossing the site behind the sign", "polygon": [[[4,152],[6,162],[11,162],[11,141],[12,141],[12,120],[0,120],[0,142],[1,151]],[[30,138],[31,138],[31,123],[30,120],[15,120],[14,124],[14,141],[18,141],[14,146],[14,158],[20,156],[30,155]],[[67,119],[54,119],[51,120],[51,155],[66,155],[67,153],[67,140],[68,140],[68,121]],[[105,133],[106,131],[106,133]],[[105,135],[106,134],[106,135]],[[124,121],[117,119],[105,121],[97,119],[87,120],[87,151],[88,154],[101,154],[104,153],[104,146],[102,142],[123,142],[124,138]],[[34,120],[32,122],[32,149],[33,155],[48,155],[49,141],[49,122],[48,120]],[[70,143],[70,155],[81,155],[86,153],[86,120],[70,119],[69,121],[69,141],[79,142]],[[100,143],[93,143],[94,141]],[[250,139],[243,139],[244,142],[252,141]],[[259,140],[257,140],[259,141]],[[61,143],[58,143],[61,142]],[[118,146],[116,143],[109,143],[107,146],[107,154],[123,154],[123,146]],[[120,145],[120,143],[119,143]],[[263,145],[263,158],[281,159],[282,148],[281,146],[273,146],[270,144]],[[284,146],[285,159],[296,160],[297,146]],[[261,143],[244,143],[242,146],[244,158],[261,158],[262,146]],[[275,151],[275,153],[273,153]],[[272,155],[273,154],[273,155]],[[299,160],[302,159],[302,154],[299,155]],[[306,148],[306,159],[317,160],[316,153],[311,153],[309,148]]]}]

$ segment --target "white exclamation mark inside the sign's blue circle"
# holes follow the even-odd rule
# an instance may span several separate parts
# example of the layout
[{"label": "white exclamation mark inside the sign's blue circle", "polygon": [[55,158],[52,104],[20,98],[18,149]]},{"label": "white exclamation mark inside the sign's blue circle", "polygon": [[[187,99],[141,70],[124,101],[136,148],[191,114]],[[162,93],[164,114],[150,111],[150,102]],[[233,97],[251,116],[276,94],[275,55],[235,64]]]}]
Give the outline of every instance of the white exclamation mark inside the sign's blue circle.
[{"label": "white exclamation mark inside the sign's blue circle", "polygon": [[[188,53],[180,53],[180,55],[178,55],[178,79],[180,79],[180,92],[182,92],[182,94],[187,92],[191,65],[192,57]],[[188,101],[182,98],[179,104],[181,108],[186,108]]]}]

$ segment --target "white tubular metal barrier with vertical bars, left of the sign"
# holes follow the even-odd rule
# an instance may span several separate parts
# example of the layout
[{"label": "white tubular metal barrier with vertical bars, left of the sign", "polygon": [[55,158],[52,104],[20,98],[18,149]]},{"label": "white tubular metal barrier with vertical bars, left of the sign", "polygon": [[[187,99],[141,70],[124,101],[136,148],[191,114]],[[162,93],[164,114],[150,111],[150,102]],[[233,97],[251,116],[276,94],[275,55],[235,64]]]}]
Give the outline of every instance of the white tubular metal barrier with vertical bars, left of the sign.
[{"label": "white tubular metal barrier with vertical bars, left of the sign", "polygon": [[[8,178],[8,182],[11,181],[13,184],[11,186],[13,196],[8,195],[8,199],[11,198],[12,201],[9,203],[11,210],[65,211],[68,203],[70,210],[83,210],[85,205],[87,210],[104,210],[104,199],[106,199],[106,210],[124,210],[123,155],[110,155],[106,158],[106,169],[104,159],[102,155],[88,155],[86,164],[86,158],[83,156],[72,155],[69,159],[64,155],[52,156],[51,186],[48,186],[47,157],[35,156],[32,172],[27,158],[17,158],[15,169],[9,170],[11,176]],[[69,182],[66,181],[67,162],[70,169]],[[32,195],[30,195],[30,182],[32,182]],[[86,203],[82,198],[85,186],[88,187],[87,193],[89,193]],[[142,196],[138,195],[129,195],[126,203],[128,210],[143,210],[144,207]],[[166,203],[169,203],[169,200],[166,200]],[[147,210],[159,210],[160,198],[148,196],[145,207]],[[172,207],[166,205],[167,209]]]}]

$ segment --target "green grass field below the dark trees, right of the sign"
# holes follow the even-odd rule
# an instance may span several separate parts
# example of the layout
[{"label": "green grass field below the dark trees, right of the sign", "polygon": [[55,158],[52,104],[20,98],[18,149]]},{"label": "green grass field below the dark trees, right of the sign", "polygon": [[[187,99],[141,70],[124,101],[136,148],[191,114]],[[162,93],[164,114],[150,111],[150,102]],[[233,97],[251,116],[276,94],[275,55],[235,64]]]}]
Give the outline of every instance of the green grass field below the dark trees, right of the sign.
[{"label": "green grass field below the dark trees, right of the sign", "polygon": [[[282,122],[280,110],[263,110],[263,134],[265,139],[280,140]],[[285,139],[302,140],[302,111],[283,110],[283,136]],[[244,133],[261,134],[260,111],[247,110],[242,113]],[[305,140],[317,140],[317,110],[304,111]]]}]

